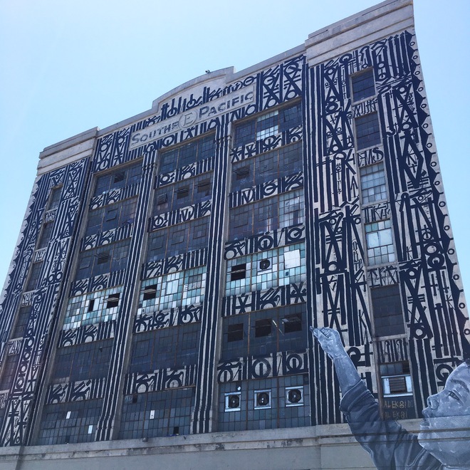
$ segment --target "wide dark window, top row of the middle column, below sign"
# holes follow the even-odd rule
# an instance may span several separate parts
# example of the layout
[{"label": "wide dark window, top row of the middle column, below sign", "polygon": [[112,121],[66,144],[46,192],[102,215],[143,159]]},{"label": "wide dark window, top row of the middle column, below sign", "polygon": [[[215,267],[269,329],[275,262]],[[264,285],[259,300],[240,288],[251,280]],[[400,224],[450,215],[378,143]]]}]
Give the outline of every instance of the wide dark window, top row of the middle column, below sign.
[{"label": "wide dark window, top row of the middle column, below sign", "polygon": [[187,164],[214,157],[215,150],[215,137],[211,134],[164,151],[160,154],[158,172],[169,173]]}]

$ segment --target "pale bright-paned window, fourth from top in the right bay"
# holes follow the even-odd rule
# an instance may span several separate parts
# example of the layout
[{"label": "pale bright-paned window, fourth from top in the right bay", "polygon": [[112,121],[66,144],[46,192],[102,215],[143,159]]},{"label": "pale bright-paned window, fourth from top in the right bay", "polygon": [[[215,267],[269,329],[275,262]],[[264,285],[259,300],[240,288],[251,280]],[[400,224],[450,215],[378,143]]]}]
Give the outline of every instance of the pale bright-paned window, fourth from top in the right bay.
[{"label": "pale bright-paned window, fourth from top in the right bay", "polygon": [[390,219],[365,224],[369,266],[395,261]]}]

